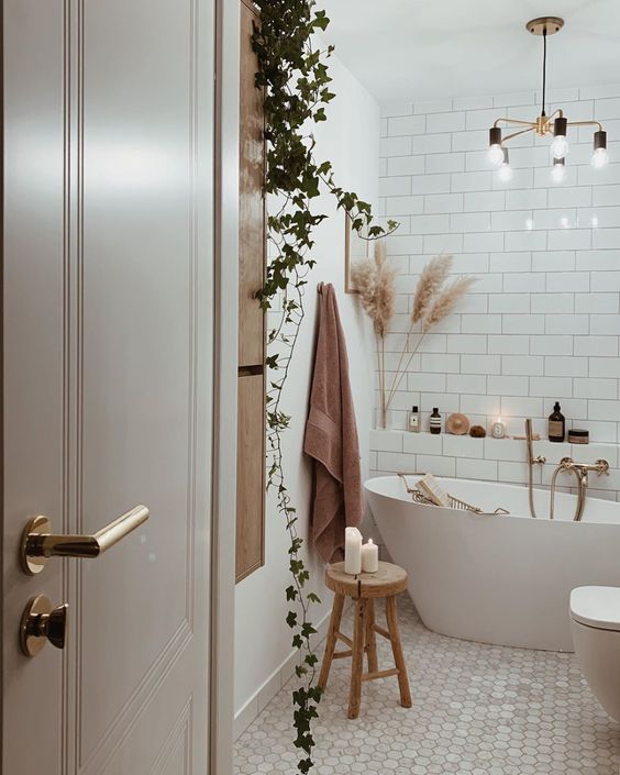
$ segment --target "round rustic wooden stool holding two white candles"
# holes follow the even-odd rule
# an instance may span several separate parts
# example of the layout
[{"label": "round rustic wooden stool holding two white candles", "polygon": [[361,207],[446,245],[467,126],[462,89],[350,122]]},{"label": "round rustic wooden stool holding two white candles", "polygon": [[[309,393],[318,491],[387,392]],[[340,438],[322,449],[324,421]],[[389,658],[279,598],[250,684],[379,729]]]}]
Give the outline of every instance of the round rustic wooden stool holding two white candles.
[{"label": "round rustic wooden stool holding two white candles", "polygon": [[[319,686],[324,689],[330,677],[332,660],[352,656],[351,688],[348,694],[348,718],[356,719],[359,715],[359,700],[362,683],[375,678],[398,676],[400,688],[400,705],[411,707],[411,693],[409,678],[402,656],[402,645],[398,634],[398,618],[396,613],[396,596],[407,588],[407,572],[391,563],[379,563],[377,573],[361,573],[350,576],[344,573],[344,563],[329,565],[325,571],[325,585],[335,593],[330,629],[325,643],[325,654],[319,677]],[[355,600],[355,622],[353,640],[340,632],[340,621],[344,607],[344,598]],[[375,622],[375,598],[386,598],[387,630]],[[377,664],[376,633],[386,638],[391,644],[396,667],[379,671]],[[336,642],[342,641],[348,646],[347,651],[336,652]],[[368,672],[364,673],[364,652],[368,660]]]}]

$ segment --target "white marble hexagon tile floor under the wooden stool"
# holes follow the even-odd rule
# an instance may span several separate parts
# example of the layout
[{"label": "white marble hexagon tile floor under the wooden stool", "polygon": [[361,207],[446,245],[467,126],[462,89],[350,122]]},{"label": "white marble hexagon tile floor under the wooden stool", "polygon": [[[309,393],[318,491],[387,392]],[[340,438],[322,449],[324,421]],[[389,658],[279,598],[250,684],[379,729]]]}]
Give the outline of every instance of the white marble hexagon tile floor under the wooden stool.
[{"label": "white marble hexagon tile floor under the wooden stool", "polygon": [[[399,621],[413,707],[401,708],[396,679],[385,678],[364,685],[359,718],[348,720],[350,661],[335,661],[314,724],[313,775],[619,775],[620,724],[574,654],[438,635],[407,595]],[[389,644],[378,641],[379,667],[391,667]],[[235,775],[297,772],[294,687],[295,678],[239,738]]]}]

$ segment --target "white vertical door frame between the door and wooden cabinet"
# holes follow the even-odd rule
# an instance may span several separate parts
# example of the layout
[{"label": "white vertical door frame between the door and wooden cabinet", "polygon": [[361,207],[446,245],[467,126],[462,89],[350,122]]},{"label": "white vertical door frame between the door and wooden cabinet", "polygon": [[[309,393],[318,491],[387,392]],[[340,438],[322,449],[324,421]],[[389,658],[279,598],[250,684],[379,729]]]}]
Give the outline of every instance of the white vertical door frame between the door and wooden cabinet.
[{"label": "white vertical door frame between the door and wooden cabinet", "polygon": [[[215,363],[209,775],[233,771],[239,287],[239,3],[215,0]],[[225,165],[225,174],[224,174]]]}]

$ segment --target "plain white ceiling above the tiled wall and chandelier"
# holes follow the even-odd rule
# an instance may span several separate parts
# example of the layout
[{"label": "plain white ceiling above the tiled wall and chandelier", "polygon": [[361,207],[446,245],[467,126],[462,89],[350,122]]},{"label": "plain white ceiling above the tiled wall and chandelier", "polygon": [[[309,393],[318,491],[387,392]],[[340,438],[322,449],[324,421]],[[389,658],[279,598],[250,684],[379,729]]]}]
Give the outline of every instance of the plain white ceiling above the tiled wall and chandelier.
[{"label": "plain white ceiling above the tiled wall and chandelier", "polygon": [[525,22],[562,16],[549,88],[620,81],[620,0],[319,0],[336,54],[381,102],[540,88],[542,38]]}]

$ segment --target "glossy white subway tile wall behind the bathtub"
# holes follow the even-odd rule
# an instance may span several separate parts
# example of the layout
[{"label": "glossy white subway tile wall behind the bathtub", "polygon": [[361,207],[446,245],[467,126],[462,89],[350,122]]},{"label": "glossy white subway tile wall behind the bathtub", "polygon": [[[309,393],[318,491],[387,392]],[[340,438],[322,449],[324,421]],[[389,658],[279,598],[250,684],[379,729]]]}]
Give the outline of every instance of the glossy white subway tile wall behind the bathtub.
[{"label": "glossy white subway tile wall behind the bathtub", "polygon": [[[620,442],[620,85],[551,98],[568,120],[609,122],[607,168],[589,164],[593,132],[573,129],[566,179],[554,184],[549,139],[524,135],[510,144],[514,175],[502,182],[486,158],[487,130],[500,115],[535,117],[538,99],[523,92],[384,111],[381,213],[401,223],[388,240],[399,314],[387,337],[387,367],[399,362],[411,294],[431,257],[454,254],[455,275],[478,277],[398,385],[395,429],[406,429],[407,410],[417,405],[424,428],[439,407],[444,418],[462,411],[487,429],[501,413],[512,433],[532,417],[544,438],[558,400],[568,428],[589,429],[593,442]],[[480,467],[461,461],[479,460],[480,444],[446,436],[440,470],[438,442],[432,451],[418,450],[421,443],[407,435],[405,447],[373,447],[379,470],[407,454],[433,463],[435,473],[523,479],[522,457]]]}]

